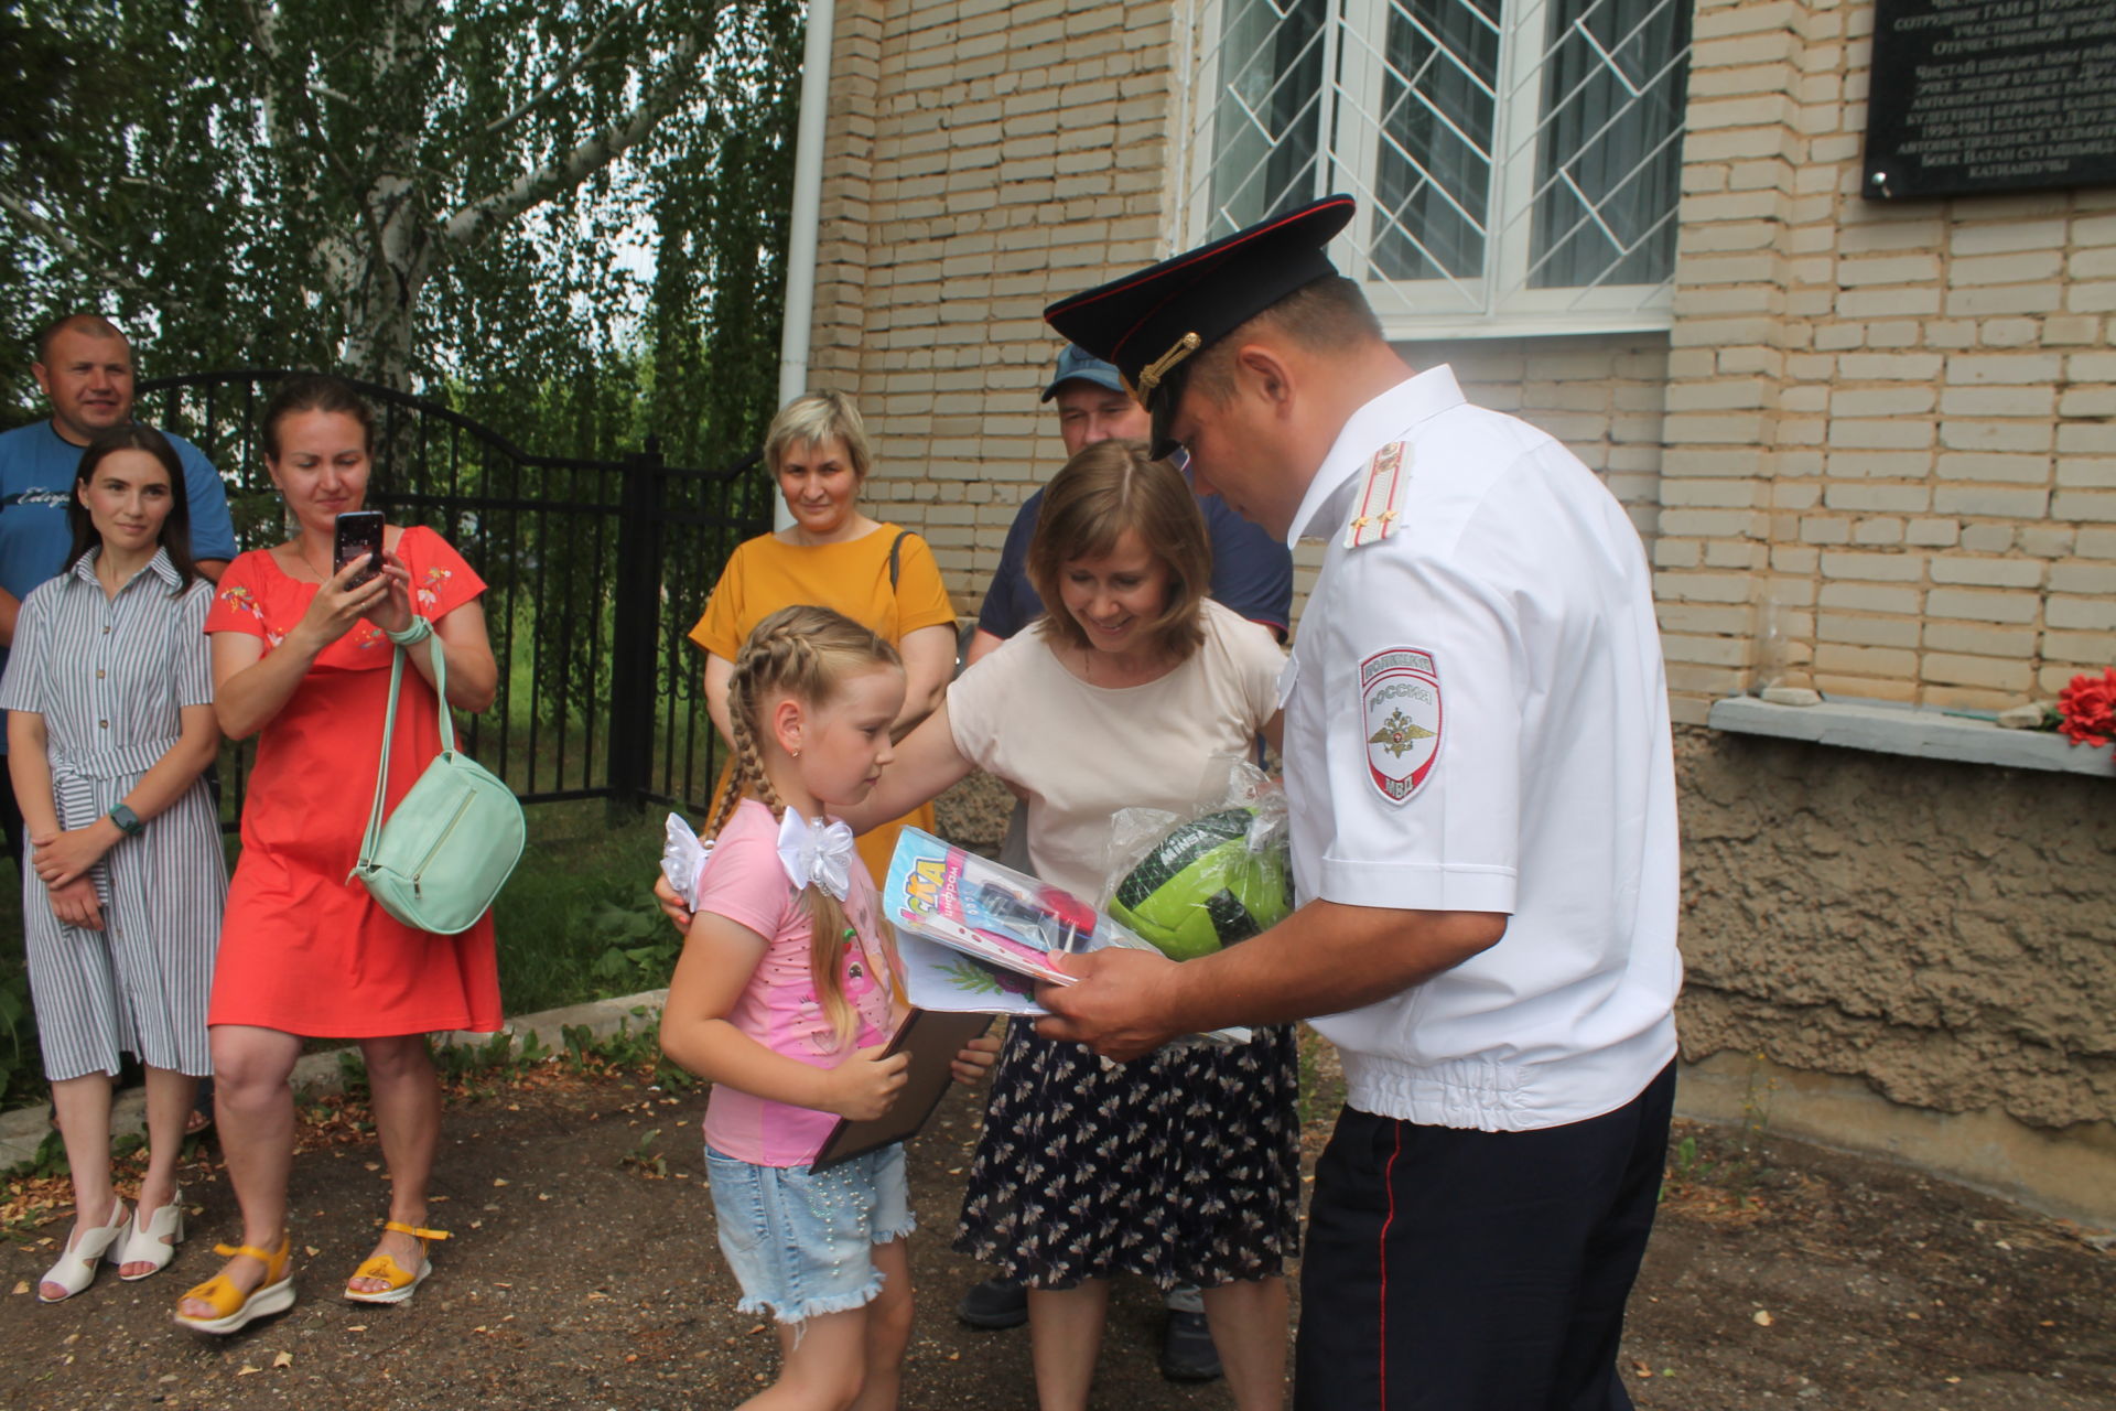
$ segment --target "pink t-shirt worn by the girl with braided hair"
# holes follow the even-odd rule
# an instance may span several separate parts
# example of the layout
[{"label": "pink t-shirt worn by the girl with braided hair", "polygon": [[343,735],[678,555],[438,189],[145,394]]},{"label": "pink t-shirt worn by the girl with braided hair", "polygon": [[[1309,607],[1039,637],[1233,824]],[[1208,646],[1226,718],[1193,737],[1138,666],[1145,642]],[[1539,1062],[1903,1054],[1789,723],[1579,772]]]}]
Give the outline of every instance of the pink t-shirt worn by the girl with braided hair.
[{"label": "pink t-shirt worn by the girl with braided hair", "polygon": [[[808,903],[787,882],[779,865],[779,823],[758,800],[743,800],[713,842],[713,859],[698,882],[698,912],[713,912],[768,937],[764,958],[749,988],[734,1001],[728,1022],[772,1053],[813,1068],[836,1068],[855,1049],[889,1039],[891,975],[889,954],[876,927],[874,880],[865,867],[851,867],[844,916],[859,941],[844,948],[840,971],[844,996],[859,1018],[853,1043],[836,1047],[836,1030],[808,977]],[[823,1138],[838,1125],[834,1113],[770,1102],[713,1085],[705,1106],[705,1140],[753,1166],[806,1166]]]}]

